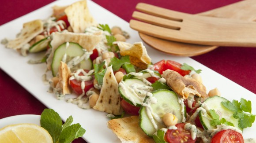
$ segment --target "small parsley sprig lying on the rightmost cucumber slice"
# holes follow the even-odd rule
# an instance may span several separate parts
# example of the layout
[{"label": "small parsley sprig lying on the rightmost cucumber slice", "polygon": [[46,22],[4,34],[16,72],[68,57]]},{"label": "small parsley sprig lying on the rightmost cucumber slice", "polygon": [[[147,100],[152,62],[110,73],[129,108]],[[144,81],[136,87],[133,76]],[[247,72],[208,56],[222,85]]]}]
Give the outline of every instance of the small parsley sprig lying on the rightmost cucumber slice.
[{"label": "small parsley sprig lying on the rightmost cucumber slice", "polygon": [[211,117],[213,118],[210,122],[210,124],[212,126],[216,126],[216,125],[221,125],[221,124],[225,124],[225,125],[230,125],[230,126],[234,126],[233,123],[231,123],[230,121],[227,121],[225,118],[220,118],[219,115],[215,112],[215,110],[209,110]]}]

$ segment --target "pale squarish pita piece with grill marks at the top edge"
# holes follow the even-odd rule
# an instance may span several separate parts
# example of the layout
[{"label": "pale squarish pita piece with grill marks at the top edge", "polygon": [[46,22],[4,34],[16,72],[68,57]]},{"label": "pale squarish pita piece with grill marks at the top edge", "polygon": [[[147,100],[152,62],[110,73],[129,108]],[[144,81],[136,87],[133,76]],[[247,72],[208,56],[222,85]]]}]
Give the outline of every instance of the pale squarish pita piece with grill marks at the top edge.
[{"label": "pale squarish pita piece with grill marks at the top edge", "polygon": [[89,26],[97,26],[97,22],[90,15],[87,1],[81,0],[71,4],[65,9],[68,22],[75,33],[84,33]]}]

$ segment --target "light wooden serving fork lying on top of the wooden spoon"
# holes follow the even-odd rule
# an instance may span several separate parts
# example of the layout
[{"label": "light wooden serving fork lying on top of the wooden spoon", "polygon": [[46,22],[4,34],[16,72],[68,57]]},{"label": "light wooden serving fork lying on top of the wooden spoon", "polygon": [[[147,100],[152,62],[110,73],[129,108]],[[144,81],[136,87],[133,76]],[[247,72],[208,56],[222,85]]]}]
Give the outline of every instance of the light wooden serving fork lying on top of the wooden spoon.
[{"label": "light wooden serving fork lying on top of the wooden spoon", "polygon": [[[139,3],[132,15],[130,27],[141,33],[165,40],[184,43],[256,47],[255,22],[213,18]],[[147,14],[146,14],[147,13]],[[145,23],[147,22],[147,23]]]}]

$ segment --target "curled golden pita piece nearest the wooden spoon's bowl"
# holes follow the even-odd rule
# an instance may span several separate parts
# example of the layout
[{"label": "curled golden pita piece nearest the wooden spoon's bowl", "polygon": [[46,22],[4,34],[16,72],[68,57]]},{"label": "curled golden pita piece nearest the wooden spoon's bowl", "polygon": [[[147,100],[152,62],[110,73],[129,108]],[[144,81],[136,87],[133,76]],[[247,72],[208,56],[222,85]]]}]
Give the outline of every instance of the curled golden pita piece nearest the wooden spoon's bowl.
[{"label": "curled golden pita piece nearest the wooden spoon's bowl", "polygon": [[118,41],[113,44],[118,45],[122,56],[129,55],[131,63],[140,69],[147,69],[147,65],[151,63],[151,58],[147,55],[147,49],[142,42],[129,44]]}]

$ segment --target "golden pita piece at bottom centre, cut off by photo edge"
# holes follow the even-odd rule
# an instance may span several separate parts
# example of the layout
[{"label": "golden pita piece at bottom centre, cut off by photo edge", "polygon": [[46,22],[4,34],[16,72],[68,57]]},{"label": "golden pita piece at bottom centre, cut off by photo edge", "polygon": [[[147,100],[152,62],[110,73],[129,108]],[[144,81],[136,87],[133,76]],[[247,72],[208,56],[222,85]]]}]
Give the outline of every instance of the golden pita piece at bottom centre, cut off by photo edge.
[{"label": "golden pita piece at bottom centre, cut off by photo edge", "polygon": [[139,116],[113,119],[107,125],[122,143],[154,143],[139,127]]}]

